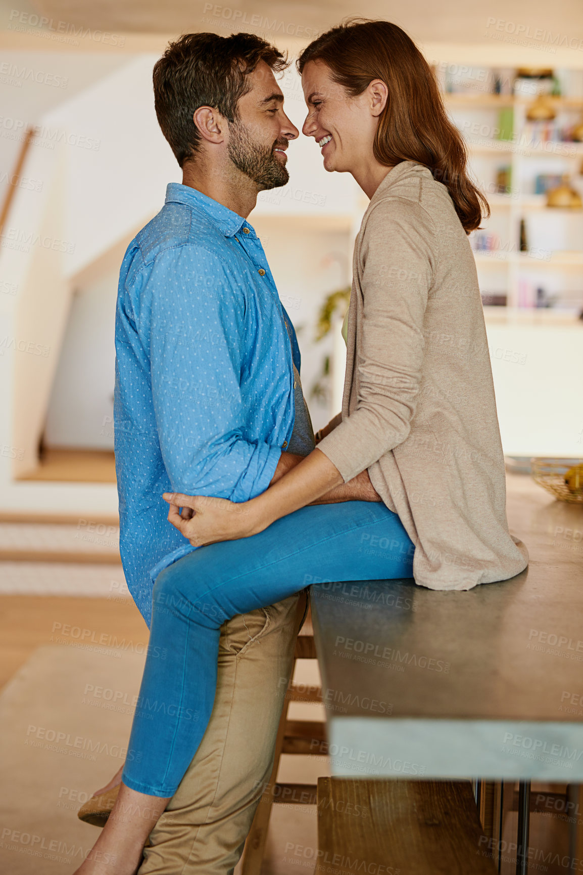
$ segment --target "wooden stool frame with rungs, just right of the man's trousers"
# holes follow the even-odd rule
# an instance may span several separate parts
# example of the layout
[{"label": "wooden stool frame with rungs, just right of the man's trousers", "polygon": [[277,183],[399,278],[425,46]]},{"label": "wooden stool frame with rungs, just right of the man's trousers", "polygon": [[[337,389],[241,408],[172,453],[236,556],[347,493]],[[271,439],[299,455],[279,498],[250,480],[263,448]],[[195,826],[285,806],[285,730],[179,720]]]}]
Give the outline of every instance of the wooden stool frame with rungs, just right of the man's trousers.
[{"label": "wooden stool frame with rungs, just right of the man's trousers", "polygon": [[[316,646],[314,644],[312,621],[309,613],[295,642],[292,678],[294,677],[295,661],[298,659],[316,659]],[[313,742],[316,740],[323,745],[326,741],[326,725],[322,721],[288,720],[290,702],[322,702],[322,697],[315,691],[304,692],[299,690],[294,683],[291,684],[286,694],[275,741],[274,768],[269,778],[269,783],[261,795],[251,830],[246,839],[241,868],[242,875],[260,875],[267,840],[269,816],[271,815],[271,807],[274,802],[316,805],[316,784],[289,784],[277,781],[282,753],[299,753],[304,755],[314,753]]]}]

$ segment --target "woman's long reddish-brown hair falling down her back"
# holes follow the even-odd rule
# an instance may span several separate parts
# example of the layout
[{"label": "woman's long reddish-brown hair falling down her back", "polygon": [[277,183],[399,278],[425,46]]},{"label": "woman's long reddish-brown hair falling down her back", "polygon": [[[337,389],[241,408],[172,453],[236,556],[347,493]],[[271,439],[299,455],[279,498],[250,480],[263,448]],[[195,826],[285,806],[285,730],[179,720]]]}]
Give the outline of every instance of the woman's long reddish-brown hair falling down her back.
[{"label": "woman's long reddish-brown hair falling down her back", "polygon": [[300,73],[310,60],[330,67],[332,79],[351,97],[373,79],[389,89],[378,121],[374,157],[394,166],[416,161],[447,187],[462,226],[479,228],[488,201],[468,179],[468,154],[462,135],[443,106],[434,73],[413,40],[388,21],[350,19],[311,42],[302,52]]}]

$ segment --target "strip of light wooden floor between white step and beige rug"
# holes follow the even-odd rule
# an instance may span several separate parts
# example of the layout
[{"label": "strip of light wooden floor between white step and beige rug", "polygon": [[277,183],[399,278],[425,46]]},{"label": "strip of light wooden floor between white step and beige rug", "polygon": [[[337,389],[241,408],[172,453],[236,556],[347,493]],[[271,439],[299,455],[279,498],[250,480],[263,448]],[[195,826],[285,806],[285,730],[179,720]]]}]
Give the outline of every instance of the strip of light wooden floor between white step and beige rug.
[{"label": "strip of light wooden floor between white step and beige rug", "polygon": [[[56,624],[61,624],[61,627]],[[41,644],[50,644],[66,624],[148,642],[148,627],[127,599],[63,596],[0,596],[0,688]]]}]

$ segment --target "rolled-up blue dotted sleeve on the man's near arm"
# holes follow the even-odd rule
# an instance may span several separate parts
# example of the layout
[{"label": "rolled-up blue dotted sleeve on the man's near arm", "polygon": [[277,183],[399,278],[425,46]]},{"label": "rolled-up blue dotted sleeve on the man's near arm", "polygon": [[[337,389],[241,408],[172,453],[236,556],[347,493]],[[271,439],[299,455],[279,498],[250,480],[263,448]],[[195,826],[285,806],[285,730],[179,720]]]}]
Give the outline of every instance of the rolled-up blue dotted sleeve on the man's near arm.
[{"label": "rolled-up blue dotted sleeve on the man's near arm", "polygon": [[186,246],[158,256],[144,291],[156,427],[172,489],[238,502],[264,492],[281,449],[243,430],[240,278],[217,255]]}]

